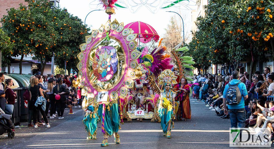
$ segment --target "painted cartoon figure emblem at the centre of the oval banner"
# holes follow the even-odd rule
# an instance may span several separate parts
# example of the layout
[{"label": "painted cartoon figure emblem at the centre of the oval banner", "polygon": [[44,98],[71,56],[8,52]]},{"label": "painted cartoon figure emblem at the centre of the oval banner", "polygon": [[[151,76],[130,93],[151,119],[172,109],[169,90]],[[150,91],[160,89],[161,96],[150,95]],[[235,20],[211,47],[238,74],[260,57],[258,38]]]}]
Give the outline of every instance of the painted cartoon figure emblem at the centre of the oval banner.
[{"label": "painted cartoon figure emblem at the centre of the oval banner", "polygon": [[94,73],[99,81],[108,81],[117,71],[117,55],[116,49],[112,46],[102,46],[96,50],[94,56],[95,63],[93,67],[97,72]]}]

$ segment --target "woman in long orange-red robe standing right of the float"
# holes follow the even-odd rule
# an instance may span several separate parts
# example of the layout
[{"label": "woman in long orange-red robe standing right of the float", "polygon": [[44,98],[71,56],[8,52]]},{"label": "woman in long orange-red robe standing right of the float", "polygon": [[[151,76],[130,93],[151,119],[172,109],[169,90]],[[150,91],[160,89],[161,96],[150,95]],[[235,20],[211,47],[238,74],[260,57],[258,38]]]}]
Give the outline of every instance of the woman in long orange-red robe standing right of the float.
[{"label": "woman in long orange-red robe standing right of the float", "polygon": [[191,108],[189,102],[190,87],[187,83],[187,79],[182,77],[181,83],[177,84],[174,89],[178,92],[175,100],[180,102],[178,108],[179,119],[182,120],[182,118],[184,118],[186,121],[191,118]]}]

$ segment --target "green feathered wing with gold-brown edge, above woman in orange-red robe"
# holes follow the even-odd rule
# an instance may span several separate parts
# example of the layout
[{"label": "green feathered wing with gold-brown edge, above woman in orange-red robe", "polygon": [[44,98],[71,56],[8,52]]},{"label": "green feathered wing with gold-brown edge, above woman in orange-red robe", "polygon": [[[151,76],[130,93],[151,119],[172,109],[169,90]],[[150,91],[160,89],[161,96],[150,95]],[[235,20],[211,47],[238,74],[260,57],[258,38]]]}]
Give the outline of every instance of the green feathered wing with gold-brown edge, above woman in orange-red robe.
[{"label": "green feathered wing with gold-brown edge, above woman in orange-red robe", "polygon": [[193,77],[193,70],[195,68],[191,65],[195,64],[195,62],[193,62],[192,57],[184,56],[184,53],[189,51],[189,48],[187,48],[187,46],[179,48],[181,44],[182,43],[175,46],[175,48],[172,49],[171,53],[176,59],[176,65],[179,69],[180,78],[184,77],[188,81],[193,81],[191,77]]}]

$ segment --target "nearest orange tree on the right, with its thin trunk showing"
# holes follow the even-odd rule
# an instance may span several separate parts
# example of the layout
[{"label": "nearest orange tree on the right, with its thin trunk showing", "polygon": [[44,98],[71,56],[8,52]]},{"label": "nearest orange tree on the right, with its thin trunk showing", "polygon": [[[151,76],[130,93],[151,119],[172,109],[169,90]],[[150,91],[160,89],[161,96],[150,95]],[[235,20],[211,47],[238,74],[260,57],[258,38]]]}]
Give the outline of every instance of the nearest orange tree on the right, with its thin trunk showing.
[{"label": "nearest orange tree on the right, with its thin trunk showing", "polygon": [[271,1],[212,0],[205,6],[206,16],[198,18],[197,26],[202,31],[219,35],[218,42],[227,44],[225,47],[219,44],[228,54],[227,61],[238,68],[239,62],[246,58],[254,61],[263,57],[263,52],[270,46],[265,40],[272,37],[272,5]]}]

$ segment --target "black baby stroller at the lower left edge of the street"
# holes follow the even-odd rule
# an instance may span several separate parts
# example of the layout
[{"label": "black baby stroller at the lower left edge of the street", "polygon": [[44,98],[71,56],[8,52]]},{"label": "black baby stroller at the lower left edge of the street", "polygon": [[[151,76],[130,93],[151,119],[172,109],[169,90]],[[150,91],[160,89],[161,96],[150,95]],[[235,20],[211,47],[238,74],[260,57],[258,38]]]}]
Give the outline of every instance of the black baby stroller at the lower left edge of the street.
[{"label": "black baby stroller at the lower left edge of the street", "polygon": [[[8,138],[13,139],[14,138],[14,132],[12,129],[15,128],[13,122],[10,120],[10,115],[7,114],[1,114],[0,116],[0,135],[3,135],[6,131],[8,132]],[[4,123],[2,123],[3,121]]]}]

